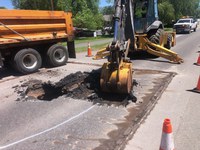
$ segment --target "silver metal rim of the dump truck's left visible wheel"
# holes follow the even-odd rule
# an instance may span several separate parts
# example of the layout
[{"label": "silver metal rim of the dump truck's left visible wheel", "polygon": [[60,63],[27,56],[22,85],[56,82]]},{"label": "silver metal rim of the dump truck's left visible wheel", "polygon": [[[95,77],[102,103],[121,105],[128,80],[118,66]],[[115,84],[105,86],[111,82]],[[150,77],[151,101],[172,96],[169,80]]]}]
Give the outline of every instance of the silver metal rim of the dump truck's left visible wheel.
[{"label": "silver metal rim of the dump truck's left visible wheel", "polygon": [[22,58],[22,64],[27,69],[34,69],[37,66],[37,58],[33,54],[26,54]]}]

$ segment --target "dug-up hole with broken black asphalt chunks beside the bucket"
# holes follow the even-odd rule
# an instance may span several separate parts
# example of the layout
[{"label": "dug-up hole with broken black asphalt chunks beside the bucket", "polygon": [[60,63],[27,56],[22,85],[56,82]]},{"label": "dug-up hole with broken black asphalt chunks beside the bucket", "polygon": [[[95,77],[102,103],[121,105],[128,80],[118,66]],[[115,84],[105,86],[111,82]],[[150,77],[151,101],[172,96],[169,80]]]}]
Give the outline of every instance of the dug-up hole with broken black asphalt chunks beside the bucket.
[{"label": "dug-up hole with broken black asphalt chunks beside the bucket", "polygon": [[[93,103],[106,103],[107,105],[120,104],[128,105],[129,102],[136,102],[136,97],[131,94],[103,93],[100,90],[99,79],[101,70],[92,72],[76,72],[70,74],[57,83],[48,81],[43,83],[40,80],[28,81],[22,85],[27,87],[24,92],[18,92],[22,98],[39,99],[51,101],[59,96],[65,95],[74,99],[89,100]],[[137,85],[133,81],[134,86]]]}]

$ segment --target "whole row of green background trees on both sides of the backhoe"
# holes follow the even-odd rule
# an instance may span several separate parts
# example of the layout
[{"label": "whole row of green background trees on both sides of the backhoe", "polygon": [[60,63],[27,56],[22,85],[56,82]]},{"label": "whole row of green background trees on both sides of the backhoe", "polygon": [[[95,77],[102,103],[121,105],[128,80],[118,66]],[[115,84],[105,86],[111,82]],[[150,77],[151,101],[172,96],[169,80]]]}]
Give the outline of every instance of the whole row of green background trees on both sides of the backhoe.
[{"label": "whole row of green background trees on both sides of the backhoe", "polygon": [[[114,0],[106,0],[110,4]],[[72,11],[76,27],[98,29],[103,26],[103,15],[113,13],[112,6],[99,8],[100,0],[12,0],[16,9]],[[200,0],[158,0],[159,18],[171,24],[182,16],[200,18]]]}]

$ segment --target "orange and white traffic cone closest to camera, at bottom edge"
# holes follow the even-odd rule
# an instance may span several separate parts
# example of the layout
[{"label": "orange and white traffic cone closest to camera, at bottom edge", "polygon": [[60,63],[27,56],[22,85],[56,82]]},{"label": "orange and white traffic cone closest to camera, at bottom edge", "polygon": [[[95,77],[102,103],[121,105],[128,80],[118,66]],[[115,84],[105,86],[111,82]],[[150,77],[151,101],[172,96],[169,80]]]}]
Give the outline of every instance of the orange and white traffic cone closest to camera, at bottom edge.
[{"label": "orange and white traffic cone closest to camera, at bottom edge", "polygon": [[165,119],[163,123],[160,150],[174,150],[174,139],[170,119]]}]

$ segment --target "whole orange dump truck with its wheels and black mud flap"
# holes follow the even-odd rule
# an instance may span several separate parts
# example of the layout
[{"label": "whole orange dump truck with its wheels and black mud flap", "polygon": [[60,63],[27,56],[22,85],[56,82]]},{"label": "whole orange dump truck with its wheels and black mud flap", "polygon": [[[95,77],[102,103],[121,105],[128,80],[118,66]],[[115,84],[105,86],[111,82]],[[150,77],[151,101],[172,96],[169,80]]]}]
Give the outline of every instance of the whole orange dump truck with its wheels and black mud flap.
[{"label": "whole orange dump truck with its wheels and black mud flap", "polygon": [[0,9],[0,66],[28,74],[43,63],[64,65],[68,57],[76,57],[70,12]]}]

